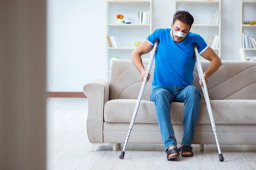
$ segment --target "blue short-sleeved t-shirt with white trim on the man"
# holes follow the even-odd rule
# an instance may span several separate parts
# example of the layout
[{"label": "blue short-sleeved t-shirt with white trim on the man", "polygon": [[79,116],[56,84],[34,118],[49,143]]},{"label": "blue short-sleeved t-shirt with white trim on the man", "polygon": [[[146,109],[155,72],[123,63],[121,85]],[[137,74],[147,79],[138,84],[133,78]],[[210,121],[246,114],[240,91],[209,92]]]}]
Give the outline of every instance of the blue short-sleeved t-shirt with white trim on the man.
[{"label": "blue short-sleeved t-shirt with white trim on the man", "polygon": [[175,42],[171,36],[171,28],[159,28],[146,39],[151,45],[159,39],[155,54],[155,68],[152,88],[163,85],[188,86],[193,82],[195,57],[193,43],[198,44],[198,53],[202,54],[209,46],[199,35],[189,32],[181,42]]}]

